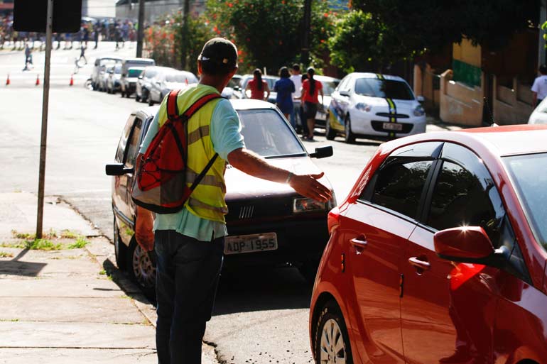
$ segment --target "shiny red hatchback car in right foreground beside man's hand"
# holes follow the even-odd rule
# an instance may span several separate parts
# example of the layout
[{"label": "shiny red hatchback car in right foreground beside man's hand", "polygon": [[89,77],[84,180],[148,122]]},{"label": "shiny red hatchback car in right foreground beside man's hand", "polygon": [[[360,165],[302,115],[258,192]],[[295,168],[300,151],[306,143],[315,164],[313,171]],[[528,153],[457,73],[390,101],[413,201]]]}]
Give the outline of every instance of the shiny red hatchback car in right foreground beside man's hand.
[{"label": "shiny red hatchback car in right foreground beside man's hand", "polygon": [[547,363],[547,126],[385,143],[328,227],[316,363]]}]

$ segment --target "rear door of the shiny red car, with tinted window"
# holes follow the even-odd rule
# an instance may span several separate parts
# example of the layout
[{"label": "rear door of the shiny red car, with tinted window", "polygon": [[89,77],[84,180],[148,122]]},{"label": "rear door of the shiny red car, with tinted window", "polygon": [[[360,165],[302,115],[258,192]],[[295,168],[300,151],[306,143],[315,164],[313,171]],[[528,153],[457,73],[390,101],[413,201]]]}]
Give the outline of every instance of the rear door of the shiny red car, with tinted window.
[{"label": "rear door of the shiny red car, with tinted window", "polygon": [[[411,145],[384,161],[341,218],[354,297],[348,318],[356,363],[404,363],[401,263],[440,143]],[[359,359],[357,359],[359,358]]]}]

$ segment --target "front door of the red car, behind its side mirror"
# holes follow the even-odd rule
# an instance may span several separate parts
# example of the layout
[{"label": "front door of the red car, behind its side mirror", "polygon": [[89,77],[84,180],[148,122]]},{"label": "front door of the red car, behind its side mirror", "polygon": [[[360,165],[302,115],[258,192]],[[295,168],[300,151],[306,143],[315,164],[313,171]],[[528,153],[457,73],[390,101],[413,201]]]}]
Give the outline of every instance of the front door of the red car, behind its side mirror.
[{"label": "front door of the red car, behind its side mirror", "polygon": [[467,148],[445,143],[424,206],[402,264],[406,362],[493,363],[494,315],[499,287],[508,273],[443,260],[433,247],[435,231],[482,226],[494,248],[506,246],[519,254],[502,200],[482,160]]}]

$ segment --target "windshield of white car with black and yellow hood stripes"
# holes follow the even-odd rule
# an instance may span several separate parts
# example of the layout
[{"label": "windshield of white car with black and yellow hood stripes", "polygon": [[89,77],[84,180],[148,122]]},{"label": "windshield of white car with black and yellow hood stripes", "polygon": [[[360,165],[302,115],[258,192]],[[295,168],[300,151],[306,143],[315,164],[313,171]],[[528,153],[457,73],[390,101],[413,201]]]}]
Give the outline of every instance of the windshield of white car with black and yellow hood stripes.
[{"label": "windshield of white car with black and yellow hood stripes", "polygon": [[393,79],[359,78],[355,81],[355,93],[396,100],[414,99],[408,84]]}]

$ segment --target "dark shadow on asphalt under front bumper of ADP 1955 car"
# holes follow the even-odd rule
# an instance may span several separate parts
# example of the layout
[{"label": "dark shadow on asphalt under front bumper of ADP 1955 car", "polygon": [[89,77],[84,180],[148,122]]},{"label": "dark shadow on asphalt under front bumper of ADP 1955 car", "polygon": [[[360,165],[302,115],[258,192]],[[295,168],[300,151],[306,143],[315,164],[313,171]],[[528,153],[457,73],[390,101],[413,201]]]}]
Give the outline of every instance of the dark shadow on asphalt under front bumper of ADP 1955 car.
[{"label": "dark shadow on asphalt under front bumper of ADP 1955 car", "polygon": [[224,270],[213,316],[310,307],[312,285],[296,268],[252,267]]}]

